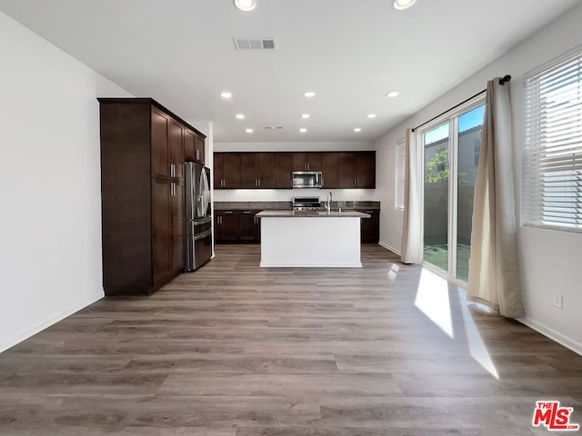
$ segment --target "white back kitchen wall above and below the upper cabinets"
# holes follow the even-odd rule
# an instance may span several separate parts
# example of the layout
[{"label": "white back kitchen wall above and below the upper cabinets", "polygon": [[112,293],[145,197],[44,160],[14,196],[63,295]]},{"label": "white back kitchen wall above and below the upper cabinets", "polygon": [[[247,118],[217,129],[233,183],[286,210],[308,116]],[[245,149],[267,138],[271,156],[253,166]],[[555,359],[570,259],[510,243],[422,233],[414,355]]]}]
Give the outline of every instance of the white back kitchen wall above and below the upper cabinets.
[{"label": "white back kitchen wall above and below the upper cabinets", "polygon": [[[215,143],[215,152],[346,152],[374,150],[369,141],[314,143]],[[377,167],[377,165],[376,165]],[[377,177],[377,171],[376,171]],[[290,202],[295,196],[327,197],[328,189],[219,189],[216,202]],[[376,201],[376,189],[333,189],[334,200]]]}]

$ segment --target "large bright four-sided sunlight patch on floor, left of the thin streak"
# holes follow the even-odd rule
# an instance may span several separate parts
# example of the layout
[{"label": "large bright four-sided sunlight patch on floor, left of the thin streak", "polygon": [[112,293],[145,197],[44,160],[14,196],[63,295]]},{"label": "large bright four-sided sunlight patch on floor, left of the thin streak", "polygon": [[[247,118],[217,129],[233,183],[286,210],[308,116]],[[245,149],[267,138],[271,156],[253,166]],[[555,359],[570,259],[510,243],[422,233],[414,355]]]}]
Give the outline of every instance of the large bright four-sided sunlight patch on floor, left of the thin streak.
[{"label": "large bright four-sided sunlight patch on floor, left of the thin streak", "polygon": [[415,305],[449,337],[455,337],[447,279],[423,268],[416,291]]}]

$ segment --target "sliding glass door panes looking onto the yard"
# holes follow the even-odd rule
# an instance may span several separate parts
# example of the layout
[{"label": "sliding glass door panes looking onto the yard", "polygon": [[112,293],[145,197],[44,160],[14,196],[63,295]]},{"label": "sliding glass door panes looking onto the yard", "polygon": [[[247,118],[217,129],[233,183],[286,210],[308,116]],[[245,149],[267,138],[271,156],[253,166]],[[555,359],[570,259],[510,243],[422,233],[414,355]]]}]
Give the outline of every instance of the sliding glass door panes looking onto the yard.
[{"label": "sliding glass door panes looking onto the yard", "polygon": [[467,282],[473,198],[485,104],[474,102],[421,132],[424,262]]}]

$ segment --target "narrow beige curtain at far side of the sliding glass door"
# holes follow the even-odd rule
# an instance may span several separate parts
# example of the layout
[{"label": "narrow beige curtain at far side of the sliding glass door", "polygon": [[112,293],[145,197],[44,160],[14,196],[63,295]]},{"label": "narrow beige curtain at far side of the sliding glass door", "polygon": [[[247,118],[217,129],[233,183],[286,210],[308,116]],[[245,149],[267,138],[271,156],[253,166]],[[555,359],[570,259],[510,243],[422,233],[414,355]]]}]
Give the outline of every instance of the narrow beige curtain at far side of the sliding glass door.
[{"label": "narrow beige curtain at far side of the sliding glass door", "polygon": [[412,129],[408,129],[406,132],[404,221],[402,223],[402,248],[400,250],[400,258],[403,263],[420,263],[422,261],[418,168],[416,134]]}]

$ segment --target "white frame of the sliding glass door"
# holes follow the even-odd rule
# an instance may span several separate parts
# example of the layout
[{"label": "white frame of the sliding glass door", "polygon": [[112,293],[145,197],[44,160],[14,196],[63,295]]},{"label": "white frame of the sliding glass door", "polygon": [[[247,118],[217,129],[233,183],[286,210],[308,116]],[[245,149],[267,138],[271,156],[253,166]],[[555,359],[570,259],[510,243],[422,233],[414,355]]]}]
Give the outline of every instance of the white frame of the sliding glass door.
[{"label": "white frame of the sliding glass door", "polygon": [[[423,253],[422,266],[438,275],[446,277],[458,287],[467,289],[467,283],[457,279],[457,220],[458,220],[458,118],[478,106],[485,104],[485,94],[478,95],[465,104],[461,104],[454,111],[438,117],[436,120],[423,125],[416,130],[416,144],[420,171],[418,172],[419,207],[421,211],[420,240]],[[425,253],[425,134],[434,128],[448,124],[448,217],[447,217],[447,271],[427,263]]]}]

